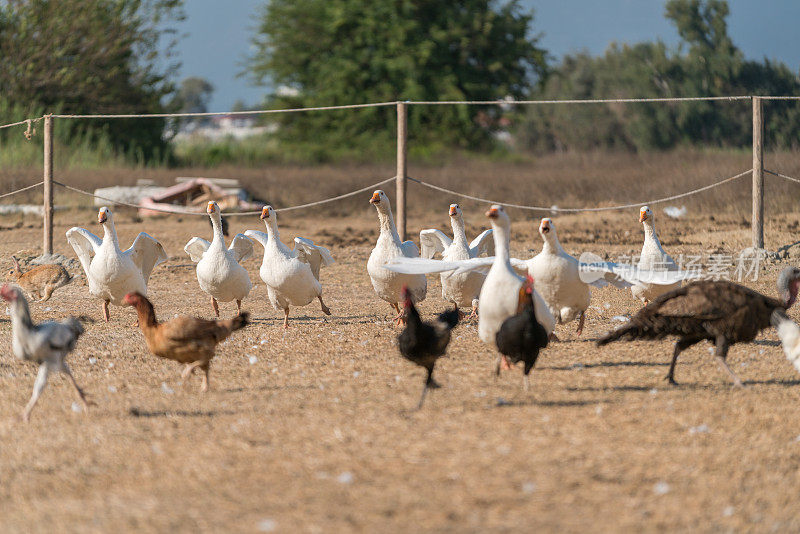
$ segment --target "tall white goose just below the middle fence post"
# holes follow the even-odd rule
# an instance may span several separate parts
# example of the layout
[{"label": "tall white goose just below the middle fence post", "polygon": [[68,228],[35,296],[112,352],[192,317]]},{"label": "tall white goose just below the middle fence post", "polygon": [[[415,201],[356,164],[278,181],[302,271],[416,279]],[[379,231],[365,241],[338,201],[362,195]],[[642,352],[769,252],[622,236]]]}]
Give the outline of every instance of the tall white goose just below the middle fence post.
[{"label": "tall white goose just below the middle fence post", "polygon": [[394,225],[392,208],[389,205],[389,198],[386,193],[380,189],[375,191],[370,199],[370,204],[375,206],[378,211],[381,233],[378,236],[375,248],[369,255],[367,273],[369,273],[369,278],[372,280],[372,287],[375,289],[375,293],[388,302],[397,312],[395,321],[399,324],[403,322],[404,313],[398,306],[400,290],[403,285],[408,286],[411,292],[411,300],[417,304],[425,300],[428,281],[424,274],[408,275],[384,268],[386,262],[398,256],[418,258],[419,249],[413,241],[400,241],[400,235]]}]

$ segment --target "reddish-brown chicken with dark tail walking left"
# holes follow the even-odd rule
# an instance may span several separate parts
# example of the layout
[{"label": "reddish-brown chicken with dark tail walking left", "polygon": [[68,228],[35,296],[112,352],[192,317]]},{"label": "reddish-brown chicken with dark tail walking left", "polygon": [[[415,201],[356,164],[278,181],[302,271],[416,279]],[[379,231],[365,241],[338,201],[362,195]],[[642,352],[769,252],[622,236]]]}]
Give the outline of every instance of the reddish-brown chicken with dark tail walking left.
[{"label": "reddish-brown chicken with dark tail walking left", "polygon": [[188,315],[178,316],[165,323],[156,319],[153,305],[141,293],[128,293],[125,303],[136,308],[139,327],[147,348],[160,358],[186,364],[181,378],[186,379],[195,369],[205,373],[200,391],[208,390],[208,368],[217,344],[248,324],[248,313],[227,321],[209,321]]}]

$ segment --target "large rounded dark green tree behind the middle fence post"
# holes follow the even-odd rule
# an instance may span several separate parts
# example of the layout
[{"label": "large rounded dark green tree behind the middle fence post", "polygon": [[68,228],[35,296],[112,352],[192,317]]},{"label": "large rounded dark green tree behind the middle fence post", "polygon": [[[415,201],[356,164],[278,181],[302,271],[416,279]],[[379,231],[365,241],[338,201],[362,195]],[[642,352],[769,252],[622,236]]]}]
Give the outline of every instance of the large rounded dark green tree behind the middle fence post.
[{"label": "large rounded dark green tree behind the middle fence post", "polygon": [[[517,0],[270,0],[260,14],[249,74],[284,89],[268,98],[276,107],[518,98],[546,72],[532,24],[533,14]],[[496,113],[496,106],[414,106],[409,133],[476,146],[489,138]],[[395,111],[278,120],[284,139],[358,147],[390,142]]]}]

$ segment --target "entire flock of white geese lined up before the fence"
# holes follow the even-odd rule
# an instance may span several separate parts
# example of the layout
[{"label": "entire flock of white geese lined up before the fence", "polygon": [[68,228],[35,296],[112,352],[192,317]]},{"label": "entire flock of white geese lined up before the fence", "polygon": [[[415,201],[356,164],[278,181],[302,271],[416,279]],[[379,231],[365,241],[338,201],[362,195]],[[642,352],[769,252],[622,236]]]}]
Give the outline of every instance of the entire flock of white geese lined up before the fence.
[{"label": "entire flock of white geese lined up before the fence", "polygon": [[[420,302],[427,294],[426,275],[441,273],[442,297],[459,309],[472,308],[472,315],[478,318],[479,336],[490,346],[494,346],[503,321],[517,312],[517,297],[525,276],[535,280],[537,319],[551,339],[557,339],[556,324],[574,320],[578,321],[578,334],[581,333],[592,285],[612,283],[630,287],[634,296],[647,302],[680,285],[687,277],[661,247],[653,214],[647,206],[640,211],[645,239],[636,270],[602,261],[580,262],[561,247],[549,218],[542,219],[539,226],[544,242],[542,251],[527,261],[512,258],[510,220],[499,205],[486,212],[492,229],[468,242],[461,208],[451,204],[452,239],[440,230],[423,230],[420,253],[413,241],[400,240],[386,194],[375,191],[370,203],[378,213],[380,234],[369,256],[367,273],[375,293],[392,306],[396,322],[404,322],[399,306],[403,286],[408,287],[414,302]],[[253,287],[241,262],[253,255],[253,241],[264,248],[259,274],[273,307],[284,312],[285,328],[290,307],[305,306],[314,299],[319,300],[323,313],[330,315],[322,297],[320,269],[334,260],[325,247],[302,237],[294,239],[292,249],[286,246],[280,239],[277,215],[271,206],[265,206],[260,216],[266,232],[248,230],[236,234],[227,245],[219,206],[209,202],[207,213],[212,224],[211,241],[193,237],[184,250],[197,263],[197,281],[210,296],[217,316],[218,302],[235,301],[241,313],[242,301]],[[103,316],[108,321],[109,304],[124,305],[125,295],[131,292],[147,294],[150,275],[158,264],[167,260],[167,254],[156,239],[144,232],[130,248],[122,250],[108,208],[100,209],[98,222],[103,227],[102,239],[77,227],[66,235],[86,274],[89,293],[102,301]],[[442,259],[434,259],[437,254]]]}]

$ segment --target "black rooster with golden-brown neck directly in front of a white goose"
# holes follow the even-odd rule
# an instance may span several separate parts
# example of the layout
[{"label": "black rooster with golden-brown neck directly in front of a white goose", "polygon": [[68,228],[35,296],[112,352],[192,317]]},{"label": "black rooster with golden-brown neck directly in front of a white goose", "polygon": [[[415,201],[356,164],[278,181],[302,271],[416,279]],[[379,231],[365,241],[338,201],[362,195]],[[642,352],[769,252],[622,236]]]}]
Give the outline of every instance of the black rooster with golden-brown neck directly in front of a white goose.
[{"label": "black rooster with golden-brown neck directly in front of a white goose", "polygon": [[539,351],[547,346],[547,340],[547,330],[536,320],[533,308],[533,278],[529,276],[519,290],[517,314],[503,321],[495,335],[497,349],[502,354],[497,360],[495,373],[500,374],[500,363],[503,361],[506,365],[509,360],[512,364],[525,362],[522,370],[523,383],[525,391],[528,391],[528,374],[536,364]]}]

